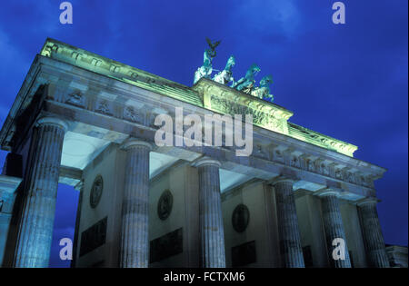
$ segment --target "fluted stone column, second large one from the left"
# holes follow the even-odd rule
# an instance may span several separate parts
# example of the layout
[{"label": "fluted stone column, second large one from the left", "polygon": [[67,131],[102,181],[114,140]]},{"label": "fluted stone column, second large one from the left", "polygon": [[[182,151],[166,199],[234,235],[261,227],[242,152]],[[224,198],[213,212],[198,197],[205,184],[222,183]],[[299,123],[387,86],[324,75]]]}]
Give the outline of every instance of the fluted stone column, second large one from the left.
[{"label": "fluted stone column, second large one from the left", "polygon": [[149,266],[149,152],[152,146],[131,140],[126,151],[122,202],[121,257],[123,268]]}]

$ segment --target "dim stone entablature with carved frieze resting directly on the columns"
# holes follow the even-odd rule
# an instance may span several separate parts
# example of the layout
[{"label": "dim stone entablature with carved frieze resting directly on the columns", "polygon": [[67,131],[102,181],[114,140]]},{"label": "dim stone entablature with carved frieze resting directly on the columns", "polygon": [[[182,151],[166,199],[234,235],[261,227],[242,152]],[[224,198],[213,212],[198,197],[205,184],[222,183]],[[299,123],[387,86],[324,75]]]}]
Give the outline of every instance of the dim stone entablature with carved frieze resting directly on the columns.
[{"label": "dim stone entablature with carved frieze resting directly on the columns", "polygon": [[[197,88],[200,89],[201,83],[205,82],[208,81],[201,80]],[[44,98],[46,113],[64,117],[71,123],[71,132],[95,136],[114,143],[122,143],[129,136],[142,136],[145,140],[153,142],[155,131],[158,129],[154,124],[155,116],[167,113],[175,119],[175,106],[183,107],[185,113],[195,113],[202,118],[205,114],[220,113],[212,103],[210,108],[206,108],[209,105],[201,107],[181,102],[180,99],[118,81],[112,76],[95,74],[84,68],[38,55],[0,133],[4,149],[10,148],[16,117],[32,102],[35,87],[38,89],[42,84],[46,84]],[[214,87],[211,84],[208,88],[210,94],[214,94]],[[226,95],[229,93],[227,89],[228,87],[224,86],[223,90],[216,90],[222,90],[225,93],[224,97],[234,100],[232,94]],[[198,90],[197,93],[205,92]],[[207,95],[202,95],[206,103],[209,98],[205,99]],[[251,104],[247,102],[245,96],[248,95],[244,94],[243,98],[239,96],[237,101],[241,104]],[[285,128],[291,130],[291,123],[287,123],[291,112],[276,104],[266,104],[260,100],[257,100],[257,104],[261,106],[261,110],[272,113],[275,119],[286,123]],[[343,153],[264,127],[254,124],[254,150],[250,158],[234,158],[236,156],[232,147],[183,146],[172,147],[174,149],[172,152],[186,151],[216,156],[217,159],[224,161],[224,168],[234,168],[238,173],[257,173],[263,170],[258,174],[262,179],[293,173],[299,181],[314,182],[323,186],[333,183],[344,189],[353,190],[351,192],[373,193],[374,180],[381,177],[385,171]],[[183,151],[175,152],[175,149]],[[189,158],[189,155],[184,156],[184,160]]]}]

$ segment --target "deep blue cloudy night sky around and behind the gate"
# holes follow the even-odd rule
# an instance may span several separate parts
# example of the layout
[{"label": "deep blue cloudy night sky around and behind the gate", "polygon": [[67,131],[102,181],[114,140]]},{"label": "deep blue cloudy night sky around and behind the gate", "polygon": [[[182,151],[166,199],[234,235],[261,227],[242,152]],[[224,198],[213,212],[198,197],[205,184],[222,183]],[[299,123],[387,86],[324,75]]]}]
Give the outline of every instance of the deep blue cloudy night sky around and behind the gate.
[{"label": "deep blue cloudy night sky around and behind the gate", "polygon": [[[333,0],[73,0],[73,25],[59,23],[61,2],[0,4],[1,124],[46,37],[187,85],[205,37],[221,39],[214,68],[230,54],[235,78],[259,64],[291,122],[354,143],[357,159],[388,169],[375,182],[385,242],[407,245],[407,0],[344,1],[345,25],[332,22]],[[68,265],[58,241],[73,236],[77,200],[60,186],[51,266]]]}]

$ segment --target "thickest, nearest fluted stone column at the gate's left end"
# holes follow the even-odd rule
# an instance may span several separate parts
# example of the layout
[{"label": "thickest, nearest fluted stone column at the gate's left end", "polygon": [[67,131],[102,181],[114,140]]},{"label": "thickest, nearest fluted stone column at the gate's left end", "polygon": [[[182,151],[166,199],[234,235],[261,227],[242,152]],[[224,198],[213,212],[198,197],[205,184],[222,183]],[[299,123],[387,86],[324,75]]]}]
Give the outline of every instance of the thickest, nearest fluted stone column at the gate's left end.
[{"label": "thickest, nearest fluted stone column at the gate's left end", "polygon": [[15,249],[15,267],[48,267],[56,192],[67,125],[54,117],[37,122],[33,160],[25,176],[24,208]]}]

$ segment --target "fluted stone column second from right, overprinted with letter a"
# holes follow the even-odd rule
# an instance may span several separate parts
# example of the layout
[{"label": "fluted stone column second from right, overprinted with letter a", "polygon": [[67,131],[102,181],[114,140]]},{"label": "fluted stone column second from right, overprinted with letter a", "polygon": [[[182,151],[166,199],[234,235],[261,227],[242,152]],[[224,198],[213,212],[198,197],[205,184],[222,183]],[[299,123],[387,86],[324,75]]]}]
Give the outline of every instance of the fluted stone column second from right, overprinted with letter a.
[{"label": "fluted stone column second from right, overprinted with letter a", "polygon": [[[321,207],[323,210],[328,260],[330,261],[331,266],[334,268],[351,268],[349,251],[346,246],[343,219],[341,217],[341,211],[339,209],[338,194],[339,192],[335,190],[325,190],[324,192],[321,192],[319,194],[321,196]],[[336,247],[339,246],[339,242],[334,242],[334,239],[344,240],[344,260],[334,260],[333,252],[336,251]],[[333,242],[335,243],[335,245],[333,245]]]}]

